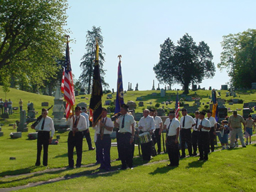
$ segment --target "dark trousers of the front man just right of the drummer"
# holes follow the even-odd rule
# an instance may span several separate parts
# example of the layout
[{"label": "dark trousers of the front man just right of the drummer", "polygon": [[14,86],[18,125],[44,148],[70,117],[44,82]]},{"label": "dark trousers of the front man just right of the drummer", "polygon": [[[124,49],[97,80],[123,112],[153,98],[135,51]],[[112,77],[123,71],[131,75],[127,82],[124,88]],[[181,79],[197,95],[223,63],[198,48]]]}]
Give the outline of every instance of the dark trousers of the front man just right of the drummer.
[{"label": "dark trousers of the front man just right of the drummer", "polygon": [[171,165],[178,166],[179,151],[178,151],[178,143],[175,143],[175,139],[176,139],[176,135],[168,136],[166,145],[168,146],[167,152],[168,152]]}]

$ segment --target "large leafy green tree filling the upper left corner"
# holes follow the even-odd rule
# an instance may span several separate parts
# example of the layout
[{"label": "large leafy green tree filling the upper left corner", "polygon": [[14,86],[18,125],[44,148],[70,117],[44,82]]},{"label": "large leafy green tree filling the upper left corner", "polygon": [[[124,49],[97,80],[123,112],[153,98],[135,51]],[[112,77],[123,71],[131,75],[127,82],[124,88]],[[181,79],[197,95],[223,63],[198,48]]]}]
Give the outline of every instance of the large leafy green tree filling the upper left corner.
[{"label": "large leafy green tree filling the upper left corner", "polygon": [[67,1],[0,1],[0,70],[41,85],[65,50]]}]

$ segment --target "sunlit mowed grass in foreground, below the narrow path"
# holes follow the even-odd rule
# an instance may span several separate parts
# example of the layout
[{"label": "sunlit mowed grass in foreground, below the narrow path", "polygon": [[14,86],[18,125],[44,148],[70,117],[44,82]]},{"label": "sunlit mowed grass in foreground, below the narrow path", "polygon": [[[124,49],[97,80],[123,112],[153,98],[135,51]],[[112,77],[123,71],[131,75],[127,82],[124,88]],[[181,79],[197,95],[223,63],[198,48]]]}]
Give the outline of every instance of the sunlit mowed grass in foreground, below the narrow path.
[{"label": "sunlit mowed grass in foreground, below the narrow path", "polygon": [[215,151],[206,162],[186,158],[177,168],[159,162],[109,174],[81,169],[78,178],[21,191],[256,191],[255,146]]}]

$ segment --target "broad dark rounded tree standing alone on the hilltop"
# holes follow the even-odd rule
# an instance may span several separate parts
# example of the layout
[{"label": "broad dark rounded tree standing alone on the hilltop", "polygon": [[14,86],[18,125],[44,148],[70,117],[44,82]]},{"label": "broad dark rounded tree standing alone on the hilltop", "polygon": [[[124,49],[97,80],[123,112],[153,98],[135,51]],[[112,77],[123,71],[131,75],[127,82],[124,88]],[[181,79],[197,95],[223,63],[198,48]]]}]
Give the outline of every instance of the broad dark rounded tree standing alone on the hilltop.
[{"label": "broad dark rounded tree standing alone on the hilltop", "polygon": [[153,68],[160,83],[179,83],[184,87],[184,94],[188,94],[191,83],[200,83],[215,74],[209,46],[204,41],[197,46],[188,33],[178,41],[177,46],[167,38],[160,48],[159,63]]}]

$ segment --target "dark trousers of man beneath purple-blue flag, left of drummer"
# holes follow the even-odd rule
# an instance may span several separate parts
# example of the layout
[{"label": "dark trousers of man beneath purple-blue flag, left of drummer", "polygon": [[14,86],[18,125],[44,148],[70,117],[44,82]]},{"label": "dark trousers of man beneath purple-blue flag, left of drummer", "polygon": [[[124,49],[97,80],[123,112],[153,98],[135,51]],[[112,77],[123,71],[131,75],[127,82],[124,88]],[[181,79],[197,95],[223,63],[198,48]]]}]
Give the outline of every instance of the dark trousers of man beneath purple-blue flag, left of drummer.
[{"label": "dark trousers of man beneath purple-blue flag, left of drummer", "polygon": [[129,132],[119,133],[118,145],[119,156],[122,162],[122,169],[126,169],[127,166],[132,168],[132,144],[130,144],[132,134]]}]

